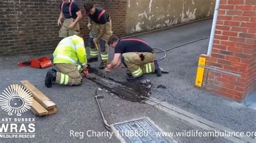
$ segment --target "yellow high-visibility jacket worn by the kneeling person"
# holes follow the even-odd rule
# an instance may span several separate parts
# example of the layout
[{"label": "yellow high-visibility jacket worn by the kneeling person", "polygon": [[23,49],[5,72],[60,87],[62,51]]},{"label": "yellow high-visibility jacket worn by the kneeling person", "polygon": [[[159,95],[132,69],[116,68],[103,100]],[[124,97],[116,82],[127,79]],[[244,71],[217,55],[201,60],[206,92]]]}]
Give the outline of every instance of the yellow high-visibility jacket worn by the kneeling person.
[{"label": "yellow high-visibility jacket worn by the kneeling person", "polygon": [[76,65],[78,61],[83,67],[87,64],[83,38],[72,35],[62,39],[53,52],[53,63],[71,63]]}]

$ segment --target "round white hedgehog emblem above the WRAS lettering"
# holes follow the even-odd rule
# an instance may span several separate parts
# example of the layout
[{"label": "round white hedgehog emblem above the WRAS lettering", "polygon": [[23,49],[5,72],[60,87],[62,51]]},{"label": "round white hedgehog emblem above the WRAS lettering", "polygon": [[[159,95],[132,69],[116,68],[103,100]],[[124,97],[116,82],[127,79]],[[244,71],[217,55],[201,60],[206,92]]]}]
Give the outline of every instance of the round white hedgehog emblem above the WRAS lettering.
[{"label": "round white hedgehog emblem above the WRAS lettering", "polygon": [[8,112],[11,116],[13,113],[17,116],[21,116],[30,109],[33,97],[31,92],[21,85],[10,85],[5,88],[3,95],[0,95],[1,109]]}]

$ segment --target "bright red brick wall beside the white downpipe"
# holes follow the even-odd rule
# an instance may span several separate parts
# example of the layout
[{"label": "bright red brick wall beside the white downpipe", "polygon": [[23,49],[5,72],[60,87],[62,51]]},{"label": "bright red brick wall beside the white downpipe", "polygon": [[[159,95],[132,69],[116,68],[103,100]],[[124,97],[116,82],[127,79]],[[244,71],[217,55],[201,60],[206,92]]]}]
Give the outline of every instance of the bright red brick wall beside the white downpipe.
[{"label": "bright red brick wall beside the white downpipe", "polygon": [[[211,56],[206,57],[203,87],[242,101],[256,81],[256,1],[221,0]],[[215,70],[215,69],[217,70]]]}]

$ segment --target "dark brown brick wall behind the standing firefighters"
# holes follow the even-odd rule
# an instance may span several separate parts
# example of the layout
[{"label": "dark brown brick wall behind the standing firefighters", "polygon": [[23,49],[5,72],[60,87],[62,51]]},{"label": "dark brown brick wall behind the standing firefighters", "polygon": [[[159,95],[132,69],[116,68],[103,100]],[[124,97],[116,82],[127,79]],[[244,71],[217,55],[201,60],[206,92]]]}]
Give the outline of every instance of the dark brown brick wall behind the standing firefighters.
[{"label": "dark brown brick wall behind the standing firefighters", "polygon": [[[0,56],[48,54],[58,44],[57,19],[60,0],[0,1]],[[82,10],[82,34],[87,38],[87,17],[82,0],[76,0]],[[96,0],[112,17],[112,30],[125,35],[126,0]]]}]

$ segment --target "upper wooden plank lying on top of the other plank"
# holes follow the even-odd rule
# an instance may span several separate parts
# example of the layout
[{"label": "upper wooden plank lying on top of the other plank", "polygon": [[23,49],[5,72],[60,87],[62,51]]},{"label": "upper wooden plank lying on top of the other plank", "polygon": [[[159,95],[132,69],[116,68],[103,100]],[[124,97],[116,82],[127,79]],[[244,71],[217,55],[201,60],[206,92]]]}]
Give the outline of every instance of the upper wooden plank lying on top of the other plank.
[{"label": "upper wooden plank lying on top of the other plank", "polygon": [[43,94],[39,89],[37,89],[33,84],[31,84],[29,81],[21,81],[21,83],[28,88],[33,98],[38,101],[45,109],[50,110],[56,107],[56,104],[52,102],[47,96]]}]

